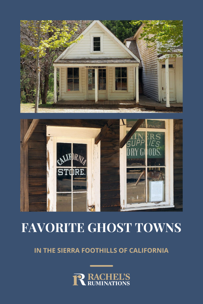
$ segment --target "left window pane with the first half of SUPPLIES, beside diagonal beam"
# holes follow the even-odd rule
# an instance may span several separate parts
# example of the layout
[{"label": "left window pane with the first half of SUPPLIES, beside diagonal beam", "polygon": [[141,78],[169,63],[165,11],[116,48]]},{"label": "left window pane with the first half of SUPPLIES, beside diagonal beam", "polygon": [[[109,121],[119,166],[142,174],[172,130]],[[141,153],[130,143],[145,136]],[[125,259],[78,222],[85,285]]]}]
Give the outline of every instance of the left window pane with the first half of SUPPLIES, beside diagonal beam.
[{"label": "left window pane with the first half of SUPPLIES, beside diagonal beam", "polygon": [[145,166],[145,132],[135,132],[128,140],[126,149],[127,166]]}]

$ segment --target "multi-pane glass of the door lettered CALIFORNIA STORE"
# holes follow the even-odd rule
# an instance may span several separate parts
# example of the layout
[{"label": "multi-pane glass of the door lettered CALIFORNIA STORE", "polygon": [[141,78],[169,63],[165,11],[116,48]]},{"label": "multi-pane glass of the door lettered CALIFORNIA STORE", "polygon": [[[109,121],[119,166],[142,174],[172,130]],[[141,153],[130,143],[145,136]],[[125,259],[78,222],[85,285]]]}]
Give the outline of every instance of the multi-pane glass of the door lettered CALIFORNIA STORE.
[{"label": "multi-pane glass of the door lettered CALIFORNIA STORE", "polygon": [[87,144],[58,142],[56,158],[56,211],[86,212]]}]

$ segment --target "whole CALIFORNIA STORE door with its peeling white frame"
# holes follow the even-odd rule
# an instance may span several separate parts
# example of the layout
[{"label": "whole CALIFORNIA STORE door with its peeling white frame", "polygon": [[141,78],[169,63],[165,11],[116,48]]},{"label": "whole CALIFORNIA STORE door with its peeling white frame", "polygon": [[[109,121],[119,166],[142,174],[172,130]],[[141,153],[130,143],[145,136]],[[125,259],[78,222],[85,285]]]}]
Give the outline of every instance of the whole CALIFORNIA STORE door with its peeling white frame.
[{"label": "whole CALIFORNIA STORE door with its peeling white frame", "polygon": [[100,211],[99,132],[47,126],[47,211]]}]

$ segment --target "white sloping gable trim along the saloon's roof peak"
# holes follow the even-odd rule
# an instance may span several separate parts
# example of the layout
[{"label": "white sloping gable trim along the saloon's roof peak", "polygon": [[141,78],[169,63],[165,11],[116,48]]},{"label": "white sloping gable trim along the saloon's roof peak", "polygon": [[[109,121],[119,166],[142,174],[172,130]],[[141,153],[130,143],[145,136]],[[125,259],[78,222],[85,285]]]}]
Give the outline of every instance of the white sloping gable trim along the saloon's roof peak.
[{"label": "white sloping gable trim along the saloon's roof peak", "polygon": [[[86,35],[88,35],[88,33],[90,32],[90,30],[93,28],[93,26],[95,26],[95,24],[97,24],[98,26],[100,26],[104,32],[106,32],[106,34],[108,36],[110,36],[111,38],[114,39],[114,42],[121,48],[123,49],[126,53],[128,53],[132,58],[136,59],[138,63],[140,63],[140,59],[133,53],[131,52],[131,50],[129,50],[113,33],[111,33],[111,31],[109,29],[107,29],[106,26],[104,26],[102,24],[102,22],[100,22],[99,20],[94,20],[82,33],[79,37],[81,37],[82,35],[85,37]],[[78,37],[78,38],[79,38]],[[82,40],[80,40],[82,41]],[[57,63],[58,60],[63,60],[64,57],[66,56],[67,52],[69,52],[70,50],[74,50],[74,48],[77,46],[77,44],[80,43],[80,41],[78,43],[73,43],[70,47],[67,47],[67,49],[54,61],[54,63]]]}]

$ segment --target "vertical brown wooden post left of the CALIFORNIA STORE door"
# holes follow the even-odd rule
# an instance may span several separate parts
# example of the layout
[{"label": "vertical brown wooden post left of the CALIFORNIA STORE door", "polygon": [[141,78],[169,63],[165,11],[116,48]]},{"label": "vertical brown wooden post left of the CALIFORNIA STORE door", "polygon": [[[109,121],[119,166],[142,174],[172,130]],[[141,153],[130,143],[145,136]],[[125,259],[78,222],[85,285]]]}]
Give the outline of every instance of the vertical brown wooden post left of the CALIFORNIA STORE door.
[{"label": "vertical brown wooden post left of the CALIFORNIA STORE door", "polygon": [[28,145],[23,149],[22,141],[27,133],[27,119],[20,120],[20,211],[29,211],[28,196]]}]

